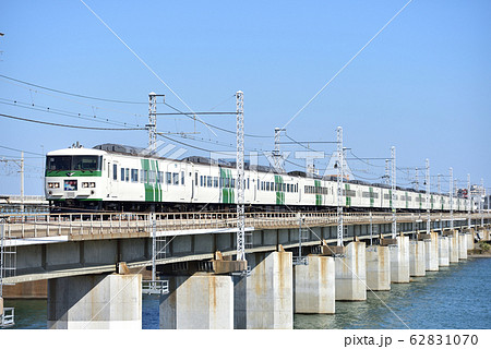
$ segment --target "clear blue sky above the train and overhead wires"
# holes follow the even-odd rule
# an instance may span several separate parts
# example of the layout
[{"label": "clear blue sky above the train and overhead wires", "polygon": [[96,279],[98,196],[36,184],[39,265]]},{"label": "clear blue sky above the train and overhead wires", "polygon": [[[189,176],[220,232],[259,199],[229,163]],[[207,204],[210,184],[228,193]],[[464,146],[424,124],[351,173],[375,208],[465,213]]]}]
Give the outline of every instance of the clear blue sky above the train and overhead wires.
[{"label": "clear blue sky above the train and overhead wires", "polygon": [[[246,132],[273,136],[408,0],[359,1],[93,1],[85,2],[195,111],[235,110],[244,92]],[[73,125],[146,123],[149,92],[167,89],[81,1],[1,1],[0,74],[59,91],[141,101],[101,103],[56,94],[0,77],[0,113]],[[415,167],[448,173],[465,186],[491,186],[491,3],[414,0],[287,128],[297,141],[335,141],[358,157],[397,149],[398,183]],[[13,101],[17,106],[13,106]],[[21,108],[19,105],[29,108]],[[38,110],[33,110],[37,108]],[[63,116],[43,112],[63,110]],[[172,111],[163,105],[159,112]],[[67,116],[67,115],[70,115]],[[203,120],[235,130],[233,117]],[[161,132],[194,132],[180,142],[233,151],[235,137],[183,117],[159,117]],[[190,135],[191,136],[191,135]],[[84,131],[0,118],[0,146],[41,154],[80,141],[146,146],[145,131]],[[287,139],[285,139],[287,140]],[[225,145],[223,145],[225,144]],[[273,139],[247,137],[248,149]],[[312,144],[331,154],[333,144]],[[304,151],[284,146],[285,151]],[[43,158],[26,154],[26,194],[41,194]],[[203,154],[190,149],[185,155]],[[0,158],[19,152],[0,147]],[[349,156],[354,158],[354,156]],[[303,164],[301,159],[289,158]],[[328,159],[316,163],[319,168]],[[384,161],[350,160],[359,179],[380,181]],[[0,193],[19,193],[15,167],[0,164]],[[289,170],[298,170],[290,166]],[[420,172],[420,179],[424,176]],[[436,180],[433,178],[432,182]],[[447,189],[448,184],[442,186]],[[436,188],[433,188],[436,190]]]}]

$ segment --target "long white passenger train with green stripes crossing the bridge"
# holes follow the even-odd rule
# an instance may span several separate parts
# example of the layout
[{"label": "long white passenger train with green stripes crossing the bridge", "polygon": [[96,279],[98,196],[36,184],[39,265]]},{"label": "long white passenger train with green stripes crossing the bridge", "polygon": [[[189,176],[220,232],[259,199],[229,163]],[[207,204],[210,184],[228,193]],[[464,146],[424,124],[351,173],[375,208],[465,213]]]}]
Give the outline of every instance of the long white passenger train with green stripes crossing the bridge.
[{"label": "long white passenger train with green stripes crossing the bridge", "polygon": [[[52,212],[194,212],[233,210],[236,169],[203,157],[182,160],[145,155],[116,144],[71,147],[46,158],[46,200]],[[271,168],[246,167],[248,210],[328,210],[337,205],[335,178],[304,172],[278,173]],[[387,185],[344,183],[346,209],[388,210]],[[426,194],[396,190],[398,210],[426,210]],[[447,195],[431,194],[432,210],[450,210]],[[466,210],[467,200],[454,197],[454,210]]]}]

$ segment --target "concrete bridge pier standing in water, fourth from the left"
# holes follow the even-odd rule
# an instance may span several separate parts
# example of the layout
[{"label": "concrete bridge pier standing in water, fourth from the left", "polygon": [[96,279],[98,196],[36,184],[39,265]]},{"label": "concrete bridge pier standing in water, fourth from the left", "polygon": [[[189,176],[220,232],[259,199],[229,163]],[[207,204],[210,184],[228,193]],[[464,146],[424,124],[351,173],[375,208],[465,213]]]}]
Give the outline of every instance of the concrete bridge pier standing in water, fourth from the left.
[{"label": "concrete bridge pier standing in water, fourth from the left", "polygon": [[294,266],[294,311],[304,314],[334,314],[334,257],[309,255],[308,265]]}]

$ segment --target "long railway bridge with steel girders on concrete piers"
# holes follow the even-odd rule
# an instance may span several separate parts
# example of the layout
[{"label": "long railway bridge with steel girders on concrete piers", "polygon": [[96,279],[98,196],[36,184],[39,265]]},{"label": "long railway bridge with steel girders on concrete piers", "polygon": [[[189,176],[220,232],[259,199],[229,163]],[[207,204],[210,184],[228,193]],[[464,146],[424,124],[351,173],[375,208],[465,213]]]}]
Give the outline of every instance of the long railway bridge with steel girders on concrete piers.
[{"label": "long railway bridge with steel girders on concrete piers", "polygon": [[1,282],[48,279],[48,328],[141,328],[142,292],[161,328],[292,328],[294,312],[334,313],[490,240],[489,213],[398,213],[396,237],[392,213],[343,218],[339,243],[336,213],[246,213],[236,261],[236,213],[5,214]]}]

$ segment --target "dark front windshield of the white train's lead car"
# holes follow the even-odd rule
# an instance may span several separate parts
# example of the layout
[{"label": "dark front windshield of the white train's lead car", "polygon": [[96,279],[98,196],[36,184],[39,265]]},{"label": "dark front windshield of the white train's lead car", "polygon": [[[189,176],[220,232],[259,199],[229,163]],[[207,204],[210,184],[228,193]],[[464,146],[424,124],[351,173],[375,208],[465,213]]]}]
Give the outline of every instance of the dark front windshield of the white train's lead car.
[{"label": "dark front windshield of the white train's lead car", "polygon": [[48,156],[46,158],[47,171],[97,171],[101,167],[101,156],[75,155],[75,156]]}]

